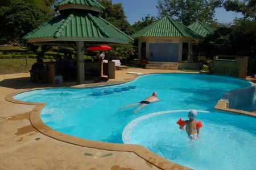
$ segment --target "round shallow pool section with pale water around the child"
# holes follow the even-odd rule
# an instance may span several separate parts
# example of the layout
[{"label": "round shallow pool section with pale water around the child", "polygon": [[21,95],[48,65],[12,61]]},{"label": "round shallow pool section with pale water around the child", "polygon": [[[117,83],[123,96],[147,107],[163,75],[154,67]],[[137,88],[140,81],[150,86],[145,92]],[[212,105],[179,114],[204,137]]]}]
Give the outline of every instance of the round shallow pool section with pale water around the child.
[{"label": "round shallow pool section with pale water around the child", "polygon": [[[255,119],[215,111],[197,110],[203,122],[200,139],[189,140],[176,124],[188,110],[144,115],[123,130],[123,141],[141,144],[156,154],[193,169],[254,169]],[[142,137],[143,136],[143,137]],[[146,140],[145,140],[146,139]]]}]

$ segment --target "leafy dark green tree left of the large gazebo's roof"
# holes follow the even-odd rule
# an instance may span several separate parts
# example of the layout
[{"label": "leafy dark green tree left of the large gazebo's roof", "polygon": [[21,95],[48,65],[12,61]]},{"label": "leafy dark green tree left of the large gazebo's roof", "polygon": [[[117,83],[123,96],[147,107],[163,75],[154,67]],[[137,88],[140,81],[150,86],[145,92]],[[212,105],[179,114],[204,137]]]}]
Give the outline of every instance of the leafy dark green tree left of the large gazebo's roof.
[{"label": "leafy dark green tree left of the large gazebo's roof", "polygon": [[[50,12],[53,9],[49,9],[53,0],[11,0],[10,4],[7,2],[0,8],[0,39],[3,43],[13,39],[20,42],[22,36],[53,16]],[[36,6],[39,4],[40,6]],[[47,5],[46,10],[43,6]]]}]

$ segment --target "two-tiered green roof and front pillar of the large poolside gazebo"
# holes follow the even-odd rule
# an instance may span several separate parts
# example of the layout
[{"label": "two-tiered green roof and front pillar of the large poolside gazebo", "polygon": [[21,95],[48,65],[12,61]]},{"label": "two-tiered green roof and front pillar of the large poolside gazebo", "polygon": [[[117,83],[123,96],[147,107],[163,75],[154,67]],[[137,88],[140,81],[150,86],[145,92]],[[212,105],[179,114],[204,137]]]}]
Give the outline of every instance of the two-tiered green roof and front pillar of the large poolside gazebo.
[{"label": "two-tiered green roof and front pillar of the large poolside gazebo", "polygon": [[133,38],[100,17],[103,6],[94,0],[63,0],[52,20],[29,32],[23,39],[34,44],[68,45],[77,51],[77,81],[85,81],[84,49],[94,44],[128,44]]}]

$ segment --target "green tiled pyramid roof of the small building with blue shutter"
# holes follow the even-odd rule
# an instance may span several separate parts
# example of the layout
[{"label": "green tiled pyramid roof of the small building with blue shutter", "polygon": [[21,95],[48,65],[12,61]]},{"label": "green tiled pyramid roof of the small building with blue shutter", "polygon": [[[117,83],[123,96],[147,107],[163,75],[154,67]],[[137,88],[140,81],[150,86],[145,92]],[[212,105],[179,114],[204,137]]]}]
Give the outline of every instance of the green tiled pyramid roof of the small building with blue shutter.
[{"label": "green tiled pyramid roof of the small building with blue shutter", "polygon": [[143,28],[135,33],[132,37],[191,37],[201,38],[199,34],[192,31],[190,28],[172,19],[170,16],[152,23],[150,26]]}]

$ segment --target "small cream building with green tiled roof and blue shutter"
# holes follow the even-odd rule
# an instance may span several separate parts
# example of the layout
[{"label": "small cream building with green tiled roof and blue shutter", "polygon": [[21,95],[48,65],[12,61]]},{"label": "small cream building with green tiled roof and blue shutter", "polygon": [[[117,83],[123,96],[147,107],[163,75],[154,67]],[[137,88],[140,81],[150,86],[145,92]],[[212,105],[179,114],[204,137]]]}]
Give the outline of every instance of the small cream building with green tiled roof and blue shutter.
[{"label": "small cream building with green tiled roof and blue shutter", "polygon": [[132,36],[138,40],[139,59],[154,62],[192,61],[192,42],[203,36],[184,26],[170,16],[156,21]]}]

